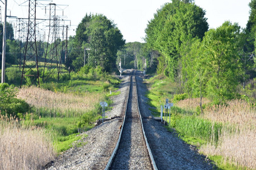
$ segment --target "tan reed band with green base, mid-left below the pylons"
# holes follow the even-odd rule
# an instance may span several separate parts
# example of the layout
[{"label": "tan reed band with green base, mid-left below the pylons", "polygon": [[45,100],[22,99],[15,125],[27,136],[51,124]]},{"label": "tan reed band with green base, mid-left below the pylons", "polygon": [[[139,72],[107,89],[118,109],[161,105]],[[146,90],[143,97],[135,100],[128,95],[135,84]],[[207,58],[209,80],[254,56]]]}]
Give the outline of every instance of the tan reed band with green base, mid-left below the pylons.
[{"label": "tan reed band with green base, mid-left below the pylons", "polygon": [[56,93],[38,87],[24,87],[18,96],[31,106],[35,114],[43,117],[73,117],[92,111],[103,95],[85,92],[84,95]]}]

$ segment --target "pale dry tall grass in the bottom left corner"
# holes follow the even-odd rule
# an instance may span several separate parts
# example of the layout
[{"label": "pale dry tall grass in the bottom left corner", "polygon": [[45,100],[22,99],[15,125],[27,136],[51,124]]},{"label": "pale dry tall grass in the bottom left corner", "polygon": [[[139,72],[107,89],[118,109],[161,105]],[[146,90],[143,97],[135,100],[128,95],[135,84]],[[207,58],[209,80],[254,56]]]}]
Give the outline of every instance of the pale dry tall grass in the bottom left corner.
[{"label": "pale dry tall grass in the bottom left corner", "polygon": [[54,157],[46,131],[23,126],[18,118],[1,116],[0,169],[41,169]]}]

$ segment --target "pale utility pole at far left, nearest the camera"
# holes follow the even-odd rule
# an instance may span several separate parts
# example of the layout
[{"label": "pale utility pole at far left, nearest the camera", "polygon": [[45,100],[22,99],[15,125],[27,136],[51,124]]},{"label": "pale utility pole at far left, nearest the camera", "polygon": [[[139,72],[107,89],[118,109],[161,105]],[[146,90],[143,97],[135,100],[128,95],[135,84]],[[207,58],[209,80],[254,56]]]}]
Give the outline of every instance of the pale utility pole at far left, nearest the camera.
[{"label": "pale utility pole at far left, nearest the camera", "polygon": [[6,12],[7,12],[7,0],[5,0],[5,20],[3,22],[3,51],[2,51],[2,79],[1,79],[1,83],[5,83]]}]

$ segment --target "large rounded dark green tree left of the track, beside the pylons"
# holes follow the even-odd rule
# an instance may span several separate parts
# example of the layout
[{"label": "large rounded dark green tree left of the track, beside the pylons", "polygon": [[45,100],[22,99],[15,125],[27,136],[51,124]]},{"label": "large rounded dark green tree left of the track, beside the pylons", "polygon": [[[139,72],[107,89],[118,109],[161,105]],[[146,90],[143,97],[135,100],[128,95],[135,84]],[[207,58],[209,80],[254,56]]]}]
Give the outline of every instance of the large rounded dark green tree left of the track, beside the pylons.
[{"label": "large rounded dark green tree left of the track, beside the pylons", "polygon": [[76,29],[69,65],[75,70],[83,66],[84,49],[89,48],[88,65],[111,71],[115,67],[117,50],[124,44],[121,32],[106,16],[86,14]]}]

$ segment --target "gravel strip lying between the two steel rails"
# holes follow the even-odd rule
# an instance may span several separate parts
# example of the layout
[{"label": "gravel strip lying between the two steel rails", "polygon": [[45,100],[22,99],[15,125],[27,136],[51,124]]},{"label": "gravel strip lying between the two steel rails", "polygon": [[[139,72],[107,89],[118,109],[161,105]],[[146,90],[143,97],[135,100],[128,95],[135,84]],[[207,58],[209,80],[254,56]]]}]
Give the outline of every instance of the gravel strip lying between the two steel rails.
[{"label": "gravel strip lying between the two steel rails", "polygon": [[134,76],[121,142],[110,169],[152,169],[139,119]]}]

